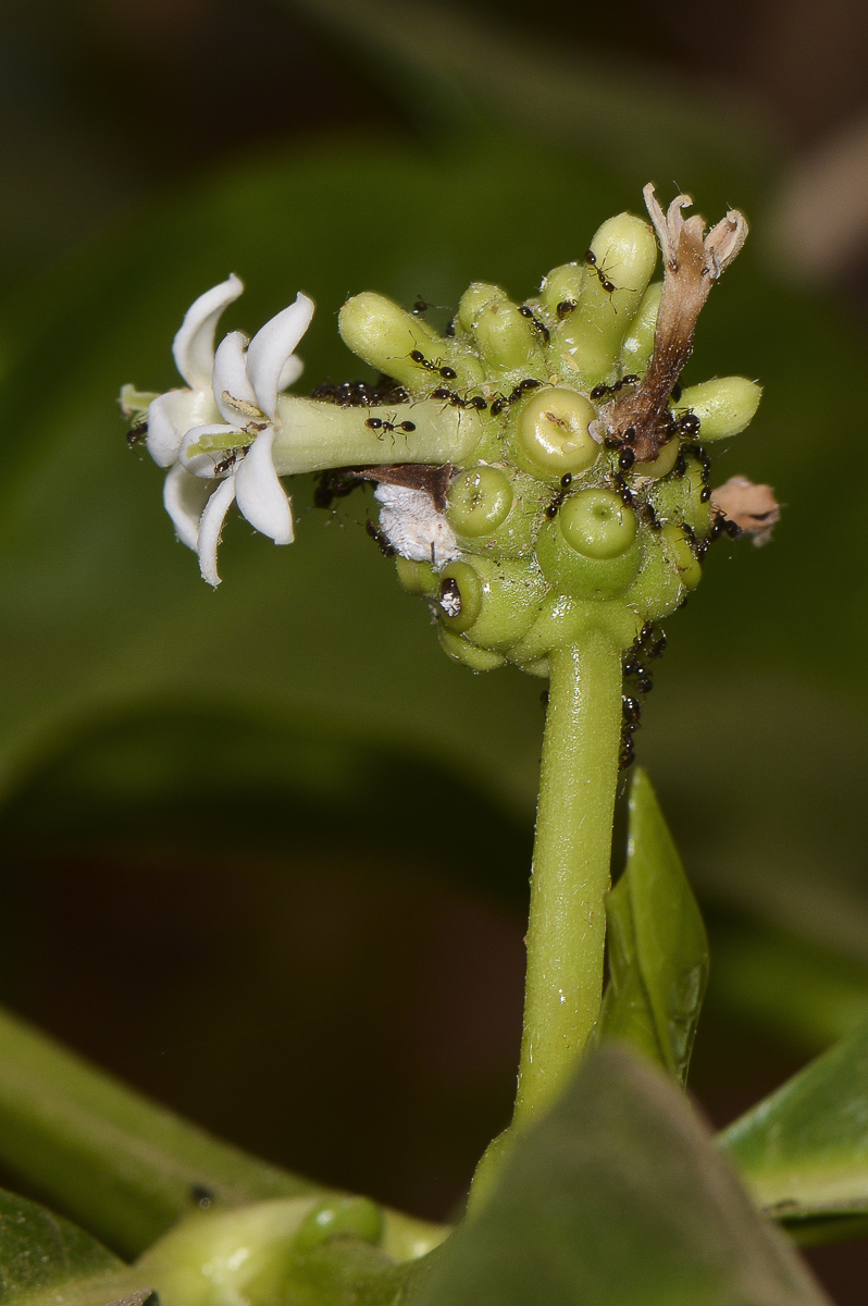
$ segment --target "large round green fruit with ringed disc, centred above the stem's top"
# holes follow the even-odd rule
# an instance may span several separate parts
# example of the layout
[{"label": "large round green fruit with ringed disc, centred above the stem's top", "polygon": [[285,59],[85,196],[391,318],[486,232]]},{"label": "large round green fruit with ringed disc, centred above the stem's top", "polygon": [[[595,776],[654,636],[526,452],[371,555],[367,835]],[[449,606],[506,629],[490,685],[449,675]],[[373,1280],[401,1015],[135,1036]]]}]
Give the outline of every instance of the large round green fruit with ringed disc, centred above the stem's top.
[{"label": "large round green fruit with ringed disc, centred above the stem's top", "polygon": [[582,490],[543,526],[536,558],[559,594],[613,598],[642,560],[636,515],[611,490]]}]

